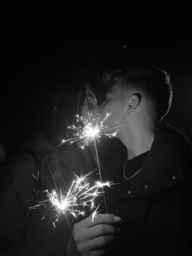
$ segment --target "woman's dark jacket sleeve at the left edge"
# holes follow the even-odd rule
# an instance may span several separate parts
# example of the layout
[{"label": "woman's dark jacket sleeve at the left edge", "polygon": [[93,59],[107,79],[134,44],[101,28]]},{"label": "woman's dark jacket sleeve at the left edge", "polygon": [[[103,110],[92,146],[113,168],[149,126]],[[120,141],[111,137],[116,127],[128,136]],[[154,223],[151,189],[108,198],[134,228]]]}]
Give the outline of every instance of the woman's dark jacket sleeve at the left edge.
[{"label": "woman's dark jacket sleeve at the left edge", "polygon": [[36,165],[29,154],[20,154],[1,170],[0,252],[1,255],[33,255],[19,249],[24,218],[33,195]]}]

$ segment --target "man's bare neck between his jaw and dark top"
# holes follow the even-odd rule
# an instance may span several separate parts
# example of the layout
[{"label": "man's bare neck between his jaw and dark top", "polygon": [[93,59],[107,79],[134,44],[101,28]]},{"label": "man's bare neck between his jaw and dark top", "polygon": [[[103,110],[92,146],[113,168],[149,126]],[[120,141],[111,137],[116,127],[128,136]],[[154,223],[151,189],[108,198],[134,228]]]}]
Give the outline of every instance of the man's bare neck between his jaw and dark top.
[{"label": "man's bare neck between his jaw and dark top", "polygon": [[155,128],[134,127],[134,129],[125,130],[119,136],[119,139],[127,148],[128,159],[137,157],[142,153],[149,151],[155,138]]}]

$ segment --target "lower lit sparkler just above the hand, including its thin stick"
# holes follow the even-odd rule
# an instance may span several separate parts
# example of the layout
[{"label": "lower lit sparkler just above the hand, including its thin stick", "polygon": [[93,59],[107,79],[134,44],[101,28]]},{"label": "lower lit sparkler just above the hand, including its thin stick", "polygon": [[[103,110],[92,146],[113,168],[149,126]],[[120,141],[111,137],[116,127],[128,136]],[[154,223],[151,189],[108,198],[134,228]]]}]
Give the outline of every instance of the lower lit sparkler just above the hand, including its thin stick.
[{"label": "lower lit sparkler just above the hand, including its thin stick", "polygon": [[[94,201],[101,194],[101,192],[99,192],[99,190],[105,186],[107,186],[109,188],[112,183],[108,182],[108,181],[105,183],[103,183],[101,181],[94,181],[94,183],[91,185],[89,183],[88,178],[92,172],[85,174],[84,176],[82,176],[82,175],[77,176],[76,174],[74,174],[76,176],[76,179],[73,179],[72,184],[71,184],[70,188],[68,189],[68,191],[65,193],[62,193],[61,190],[59,192],[59,188],[57,187],[57,185],[55,183],[55,179],[50,170],[48,161],[46,161],[46,166],[47,166],[47,170],[49,170],[50,177],[53,181],[55,189],[52,190],[51,192],[45,191],[47,193],[48,198],[44,201],[39,201],[37,205],[33,205],[30,208],[31,208],[31,210],[36,209],[37,207],[39,207],[41,205],[45,205],[47,202],[50,202],[50,205],[52,205],[51,207],[53,207],[53,209],[55,209],[55,221],[53,222],[54,227],[55,227],[55,222],[59,221],[59,216],[61,214],[63,214],[66,219],[66,222],[68,224],[68,230],[69,230],[69,234],[71,236],[70,239],[72,240],[74,248],[76,249],[76,241],[74,240],[74,237],[72,234],[72,228],[68,221],[68,215],[69,214],[72,215],[73,218],[77,218],[80,215],[85,216],[85,208],[88,208],[90,211],[92,211],[92,214],[90,215],[91,218],[89,217],[88,221],[89,221],[89,219],[91,219],[91,222],[95,223],[95,219],[98,219],[97,218],[97,216],[98,216],[97,210],[98,210],[99,205],[98,205],[98,207],[96,207],[94,204]],[[115,220],[115,218],[113,219],[113,221],[114,220]],[[103,221],[105,221],[105,219]],[[112,222],[112,220],[111,220],[111,222]],[[85,221],[83,221],[83,223],[85,223],[85,227],[86,227],[87,219],[85,219]],[[96,221],[96,223],[97,223],[97,221]],[[93,224],[88,225],[88,226],[93,226]],[[78,227],[78,225],[77,225],[77,227]],[[82,227],[84,227],[84,225],[82,225]]]}]

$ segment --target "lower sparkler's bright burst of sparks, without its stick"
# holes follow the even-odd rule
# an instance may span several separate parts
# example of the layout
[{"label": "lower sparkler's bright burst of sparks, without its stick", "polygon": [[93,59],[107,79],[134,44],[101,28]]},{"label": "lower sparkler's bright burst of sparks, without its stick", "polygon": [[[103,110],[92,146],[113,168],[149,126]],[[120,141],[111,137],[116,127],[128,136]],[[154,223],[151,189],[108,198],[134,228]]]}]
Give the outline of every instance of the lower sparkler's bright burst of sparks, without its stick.
[{"label": "lower sparkler's bright burst of sparks, without its stick", "polygon": [[[46,190],[45,192],[48,199],[39,201],[38,204],[32,206],[31,209],[35,209],[37,206],[45,205],[47,202],[50,202],[51,208],[54,208],[56,211],[56,221],[59,221],[60,214],[65,214],[66,216],[71,214],[73,218],[78,218],[78,216],[84,217],[87,214],[87,210],[93,211],[95,209],[95,200],[103,193],[100,191],[101,188],[110,188],[112,184],[109,181],[105,183],[94,181],[91,184],[88,180],[90,174],[91,172],[84,176],[77,176],[75,174],[76,178],[72,180],[72,184],[66,193],[60,191],[58,195],[55,189],[51,192]],[[93,213],[94,217],[97,210],[98,207]]]}]

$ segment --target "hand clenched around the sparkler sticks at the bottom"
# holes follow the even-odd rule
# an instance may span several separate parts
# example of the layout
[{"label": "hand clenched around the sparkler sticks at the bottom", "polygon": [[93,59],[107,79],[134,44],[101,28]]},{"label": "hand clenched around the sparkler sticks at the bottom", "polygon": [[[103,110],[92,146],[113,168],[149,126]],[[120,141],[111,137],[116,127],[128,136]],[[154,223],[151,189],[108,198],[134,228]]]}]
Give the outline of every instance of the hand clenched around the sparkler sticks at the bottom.
[{"label": "hand clenched around the sparkler sticks at the bottom", "polygon": [[[114,241],[116,232],[119,229],[114,225],[121,221],[121,218],[113,214],[97,214],[92,220],[92,216],[84,218],[79,223],[75,223],[72,228],[72,236],[76,242],[78,253],[83,255],[102,255],[107,251],[106,245]],[[72,251],[72,241],[68,240],[68,256]]]}]

